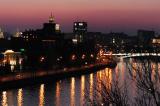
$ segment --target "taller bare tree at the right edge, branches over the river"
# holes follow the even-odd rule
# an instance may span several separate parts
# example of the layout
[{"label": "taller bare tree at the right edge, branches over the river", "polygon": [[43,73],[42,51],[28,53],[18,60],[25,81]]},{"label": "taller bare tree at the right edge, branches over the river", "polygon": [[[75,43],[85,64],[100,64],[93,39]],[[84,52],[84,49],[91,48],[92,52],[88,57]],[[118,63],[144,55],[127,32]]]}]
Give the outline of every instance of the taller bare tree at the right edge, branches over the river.
[{"label": "taller bare tree at the right edge, branches over the river", "polygon": [[128,64],[129,75],[136,84],[136,105],[160,106],[160,72],[157,63],[151,60]]}]

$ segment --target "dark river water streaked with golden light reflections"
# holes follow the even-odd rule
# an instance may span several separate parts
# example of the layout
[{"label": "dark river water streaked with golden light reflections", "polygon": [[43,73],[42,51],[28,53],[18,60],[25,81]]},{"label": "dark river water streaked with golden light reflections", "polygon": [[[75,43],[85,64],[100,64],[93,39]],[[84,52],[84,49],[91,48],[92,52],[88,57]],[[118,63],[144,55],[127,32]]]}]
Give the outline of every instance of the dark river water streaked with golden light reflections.
[{"label": "dark river water streaked with golden light reflections", "polygon": [[[101,90],[98,81],[106,77],[109,83],[113,83],[113,79],[119,80],[120,84],[129,82],[126,62],[121,60],[115,69],[105,68],[88,75],[51,81],[49,84],[2,91],[0,102],[2,106],[82,106],[87,104],[86,98],[94,98],[95,87]],[[134,96],[134,84],[128,89]]]}]

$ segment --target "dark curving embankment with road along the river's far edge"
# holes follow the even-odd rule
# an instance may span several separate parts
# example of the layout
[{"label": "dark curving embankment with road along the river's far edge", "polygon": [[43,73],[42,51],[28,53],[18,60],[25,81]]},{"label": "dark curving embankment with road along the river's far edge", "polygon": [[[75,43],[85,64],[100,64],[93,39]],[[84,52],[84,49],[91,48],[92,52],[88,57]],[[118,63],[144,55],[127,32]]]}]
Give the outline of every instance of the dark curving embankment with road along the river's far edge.
[{"label": "dark curving embankment with road along the river's far edge", "polygon": [[11,75],[0,77],[0,90],[16,88],[24,85],[40,82],[49,82],[71,76],[92,73],[106,67],[113,68],[115,64],[90,64],[81,67],[63,68],[59,70],[38,70],[33,72],[17,72]]}]

